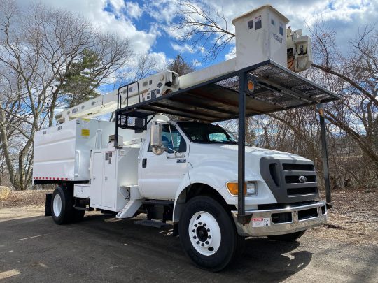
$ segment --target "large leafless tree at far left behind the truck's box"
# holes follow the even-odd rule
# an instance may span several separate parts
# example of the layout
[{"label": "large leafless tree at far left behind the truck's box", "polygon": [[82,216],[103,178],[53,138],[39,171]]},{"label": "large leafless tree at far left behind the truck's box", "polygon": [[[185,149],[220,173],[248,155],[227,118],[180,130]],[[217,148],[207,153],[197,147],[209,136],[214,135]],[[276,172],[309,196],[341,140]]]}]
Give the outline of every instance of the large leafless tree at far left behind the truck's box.
[{"label": "large leafless tree at far left behind the truck's box", "polygon": [[67,71],[88,48],[98,55],[93,88],[130,59],[129,41],[99,34],[83,17],[41,4],[21,11],[0,0],[0,145],[15,189],[29,186],[34,134],[52,125]]}]

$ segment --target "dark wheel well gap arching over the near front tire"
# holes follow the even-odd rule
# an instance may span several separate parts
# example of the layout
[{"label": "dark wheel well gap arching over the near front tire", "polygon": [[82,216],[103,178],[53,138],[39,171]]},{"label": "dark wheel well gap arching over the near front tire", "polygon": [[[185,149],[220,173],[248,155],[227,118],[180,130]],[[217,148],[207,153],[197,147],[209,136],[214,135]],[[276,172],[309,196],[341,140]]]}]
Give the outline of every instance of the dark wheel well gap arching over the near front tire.
[{"label": "dark wheel well gap arching over the near front tire", "polygon": [[221,205],[223,206],[223,208],[225,208],[226,211],[230,212],[231,210],[235,210],[235,205],[228,205],[225,202],[223,196],[219,194],[218,191],[216,191],[216,189],[210,187],[207,184],[196,183],[191,184],[190,186],[183,189],[183,191],[181,191],[179,198],[177,198],[176,208],[174,211],[174,222],[179,222],[181,212],[183,211],[185,204],[188,203],[188,201],[190,201],[190,199],[194,198],[195,196],[209,196],[211,198],[214,198],[214,200],[218,201],[218,203],[221,203]]}]

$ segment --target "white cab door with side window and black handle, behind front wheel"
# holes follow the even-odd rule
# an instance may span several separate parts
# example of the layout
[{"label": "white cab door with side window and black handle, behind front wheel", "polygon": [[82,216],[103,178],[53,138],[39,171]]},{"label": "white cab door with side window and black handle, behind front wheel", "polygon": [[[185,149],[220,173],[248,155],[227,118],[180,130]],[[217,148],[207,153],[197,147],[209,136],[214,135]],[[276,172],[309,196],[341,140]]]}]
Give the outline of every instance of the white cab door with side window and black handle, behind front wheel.
[{"label": "white cab door with side window and black handle, behind front wheel", "polygon": [[[183,134],[168,124],[162,125],[162,144],[167,150],[156,155],[148,143],[139,164],[141,191],[145,198],[174,200],[179,184],[188,173],[188,145]],[[172,148],[173,147],[173,148]],[[174,152],[179,152],[175,157]]]}]

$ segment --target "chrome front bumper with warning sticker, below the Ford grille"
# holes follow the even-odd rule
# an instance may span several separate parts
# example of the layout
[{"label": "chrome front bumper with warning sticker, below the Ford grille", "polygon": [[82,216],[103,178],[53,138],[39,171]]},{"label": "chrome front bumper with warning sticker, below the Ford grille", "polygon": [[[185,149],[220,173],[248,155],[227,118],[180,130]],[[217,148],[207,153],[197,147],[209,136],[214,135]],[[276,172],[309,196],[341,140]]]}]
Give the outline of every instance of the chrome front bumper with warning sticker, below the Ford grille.
[{"label": "chrome front bumper with warning sticker, below the Ford grille", "polygon": [[[241,224],[237,221],[237,210],[232,210],[237,233],[243,236],[282,235],[306,230],[325,224],[328,219],[324,201],[317,201],[306,205],[292,205],[288,208],[272,210],[246,210],[246,215],[252,215],[251,222]],[[269,219],[265,224],[256,226],[253,219]]]}]

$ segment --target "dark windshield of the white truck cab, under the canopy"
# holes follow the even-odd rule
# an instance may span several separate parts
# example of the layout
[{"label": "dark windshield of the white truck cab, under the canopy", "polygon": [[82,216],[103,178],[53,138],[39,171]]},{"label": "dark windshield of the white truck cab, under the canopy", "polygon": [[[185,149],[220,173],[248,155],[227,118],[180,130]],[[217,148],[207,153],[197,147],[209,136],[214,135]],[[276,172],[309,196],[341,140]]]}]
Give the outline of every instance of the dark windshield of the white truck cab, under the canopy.
[{"label": "dark windshield of the white truck cab, under the canopy", "polygon": [[198,122],[179,122],[181,129],[185,131],[190,140],[195,143],[232,143],[237,144],[237,139],[221,126]]}]

